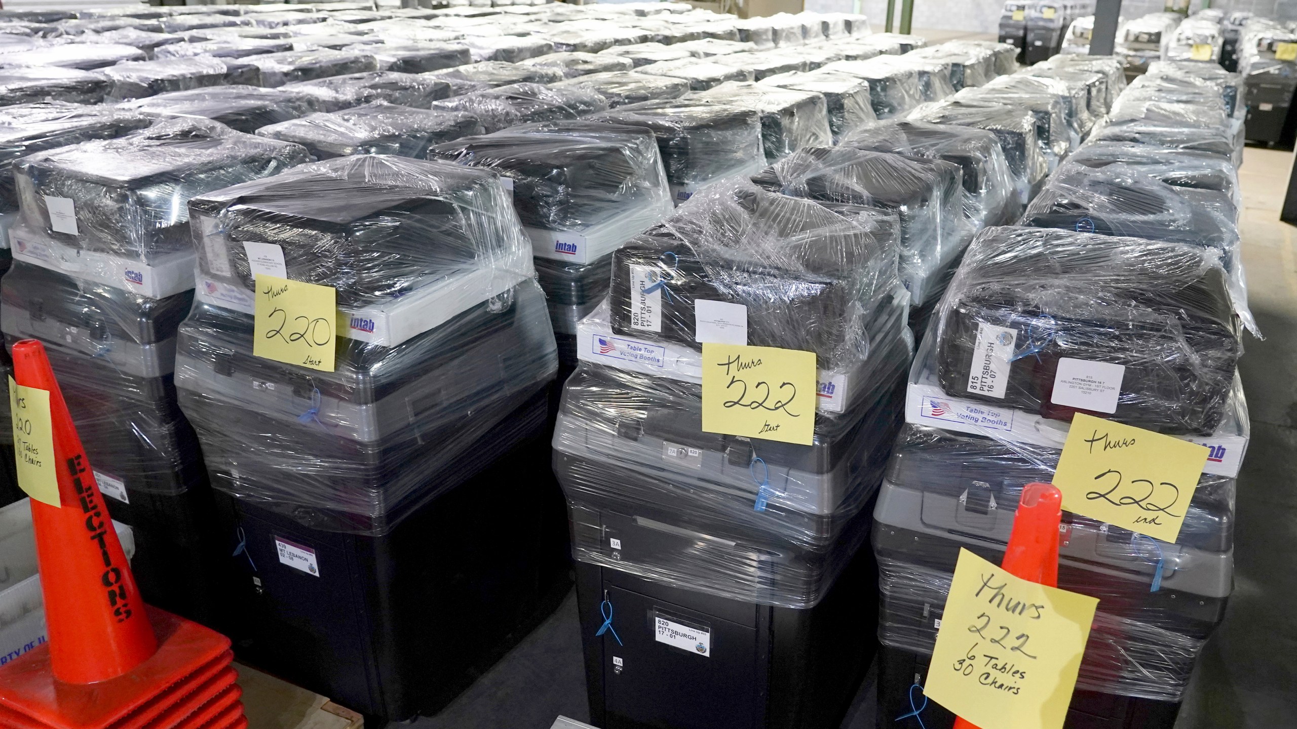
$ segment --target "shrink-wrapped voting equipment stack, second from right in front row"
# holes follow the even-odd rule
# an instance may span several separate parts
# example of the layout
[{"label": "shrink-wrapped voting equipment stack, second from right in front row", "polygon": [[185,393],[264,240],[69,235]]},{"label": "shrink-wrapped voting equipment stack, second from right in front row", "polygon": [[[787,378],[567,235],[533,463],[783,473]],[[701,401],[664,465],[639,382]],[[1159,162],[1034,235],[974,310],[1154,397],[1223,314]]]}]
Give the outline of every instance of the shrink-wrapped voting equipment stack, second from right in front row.
[{"label": "shrink-wrapped voting equipment stack, second from right in front row", "polygon": [[[554,432],[597,723],[842,721],[913,341],[898,224],[732,178],[613,252]],[[811,445],[702,429],[711,341],[815,353]]]}]

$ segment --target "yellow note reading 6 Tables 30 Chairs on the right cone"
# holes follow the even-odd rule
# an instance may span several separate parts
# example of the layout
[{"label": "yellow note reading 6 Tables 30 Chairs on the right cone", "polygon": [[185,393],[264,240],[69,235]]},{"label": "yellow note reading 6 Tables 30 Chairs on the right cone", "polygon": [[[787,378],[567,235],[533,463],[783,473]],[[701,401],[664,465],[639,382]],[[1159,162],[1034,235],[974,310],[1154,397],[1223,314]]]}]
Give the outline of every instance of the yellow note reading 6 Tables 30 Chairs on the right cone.
[{"label": "yellow note reading 6 Tables 30 Chairs on the right cone", "polygon": [[923,694],[978,726],[1061,728],[1097,606],[961,549]]}]

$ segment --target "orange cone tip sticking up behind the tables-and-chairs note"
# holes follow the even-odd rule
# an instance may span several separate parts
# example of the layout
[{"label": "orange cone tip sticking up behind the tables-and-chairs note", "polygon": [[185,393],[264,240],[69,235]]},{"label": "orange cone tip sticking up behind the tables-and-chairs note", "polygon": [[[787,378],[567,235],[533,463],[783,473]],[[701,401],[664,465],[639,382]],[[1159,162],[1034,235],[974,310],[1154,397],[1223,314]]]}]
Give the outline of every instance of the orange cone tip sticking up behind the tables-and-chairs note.
[{"label": "orange cone tip sticking up behind the tables-and-chairs note", "polygon": [[[1013,516],[1009,547],[1000,567],[1014,577],[1058,586],[1058,523],[1062,520],[1062,492],[1053,484],[1027,484]],[[955,717],[955,729],[978,729],[971,721]]]}]

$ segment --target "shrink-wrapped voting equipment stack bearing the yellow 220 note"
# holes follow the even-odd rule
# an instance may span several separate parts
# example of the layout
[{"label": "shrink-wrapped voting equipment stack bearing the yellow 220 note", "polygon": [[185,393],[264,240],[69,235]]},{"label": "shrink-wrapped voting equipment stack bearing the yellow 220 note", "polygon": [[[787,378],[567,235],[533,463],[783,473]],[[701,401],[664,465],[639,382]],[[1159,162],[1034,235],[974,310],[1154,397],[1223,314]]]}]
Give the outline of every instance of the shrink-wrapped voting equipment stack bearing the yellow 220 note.
[{"label": "shrink-wrapped voting equipment stack bearing the yellow 220 note", "polygon": [[[366,715],[438,711],[569,588],[545,468],[554,333],[508,191],[363,154],[200,195],[189,217],[176,390],[237,545],[244,660]],[[332,370],[257,354],[262,276],[333,292]]]}]

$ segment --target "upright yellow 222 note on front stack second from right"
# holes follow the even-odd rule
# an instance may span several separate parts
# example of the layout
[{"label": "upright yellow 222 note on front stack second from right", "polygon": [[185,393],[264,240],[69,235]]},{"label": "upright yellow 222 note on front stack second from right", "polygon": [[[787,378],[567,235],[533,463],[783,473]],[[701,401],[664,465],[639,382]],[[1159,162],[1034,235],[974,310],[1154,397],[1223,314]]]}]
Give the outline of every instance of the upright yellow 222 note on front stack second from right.
[{"label": "upright yellow 222 note on front stack second from right", "polygon": [[703,344],[703,431],[811,445],[813,352]]}]

